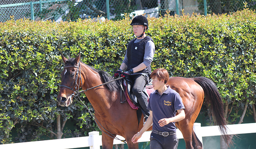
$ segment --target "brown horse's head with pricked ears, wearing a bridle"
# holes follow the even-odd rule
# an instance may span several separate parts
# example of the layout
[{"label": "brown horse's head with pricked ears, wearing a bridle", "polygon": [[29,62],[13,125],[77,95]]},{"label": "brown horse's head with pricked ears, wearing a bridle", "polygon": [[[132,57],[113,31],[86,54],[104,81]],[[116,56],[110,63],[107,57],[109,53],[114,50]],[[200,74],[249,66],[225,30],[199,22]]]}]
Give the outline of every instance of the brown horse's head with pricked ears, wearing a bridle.
[{"label": "brown horse's head with pricked ears, wearing a bridle", "polygon": [[65,66],[61,72],[61,85],[57,97],[60,106],[72,104],[74,95],[78,94],[79,87],[82,86],[80,56],[79,53],[76,58],[67,59],[61,54]]}]

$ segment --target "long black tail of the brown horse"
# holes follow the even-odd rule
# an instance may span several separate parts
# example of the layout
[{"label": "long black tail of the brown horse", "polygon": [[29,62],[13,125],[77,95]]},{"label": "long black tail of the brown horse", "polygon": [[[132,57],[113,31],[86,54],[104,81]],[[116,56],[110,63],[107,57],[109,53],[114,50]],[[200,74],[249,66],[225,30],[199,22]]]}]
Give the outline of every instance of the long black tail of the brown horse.
[{"label": "long black tail of the brown horse", "polygon": [[210,112],[216,121],[215,124],[219,126],[220,132],[225,140],[225,142],[229,145],[231,142],[231,136],[227,135],[227,121],[224,116],[224,108],[222,103],[222,98],[220,97],[220,93],[215,83],[206,77],[195,77],[193,80],[198,83],[204,90],[204,98],[207,104],[211,104]]}]

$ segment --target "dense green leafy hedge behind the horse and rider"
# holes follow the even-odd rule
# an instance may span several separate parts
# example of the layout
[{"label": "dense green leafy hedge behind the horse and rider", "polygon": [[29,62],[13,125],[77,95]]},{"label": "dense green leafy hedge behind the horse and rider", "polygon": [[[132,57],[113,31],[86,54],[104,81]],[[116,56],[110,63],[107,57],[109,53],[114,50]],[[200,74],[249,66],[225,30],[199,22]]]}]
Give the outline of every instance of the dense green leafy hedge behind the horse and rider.
[{"label": "dense green leafy hedge behind the horse and rider", "polygon": [[[245,104],[248,113],[255,103],[256,13],[232,15],[164,16],[148,18],[146,32],[155,42],[152,69],[166,68],[170,76],[213,80],[234,113],[235,122]],[[1,143],[54,138],[57,116],[74,126],[63,137],[84,136],[98,130],[82,105],[68,108],[56,104],[63,63],[60,54],[74,57],[111,75],[122,63],[133,36],[130,18],[106,22],[0,23],[0,140]],[[81,97],[85,95],[82,94]],[[90,103],[88,103],[90,106]],[[9,136],[15,126],[18,137]]]}]

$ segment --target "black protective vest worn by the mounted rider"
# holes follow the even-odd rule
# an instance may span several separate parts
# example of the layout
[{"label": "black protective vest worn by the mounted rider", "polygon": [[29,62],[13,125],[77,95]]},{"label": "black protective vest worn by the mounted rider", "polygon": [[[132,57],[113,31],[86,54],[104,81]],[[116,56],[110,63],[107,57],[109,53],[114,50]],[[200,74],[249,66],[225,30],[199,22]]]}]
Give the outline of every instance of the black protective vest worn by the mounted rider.
[{"label": "black protective vest worn by the mounted rider", "polygon": [[[153,41],[150,36],[146,36],[141,41],[134,43],[136,38],[132,39],[128,43],[127,47],[127,59],[128,59],[128,67],[127,70],[130,70],[143,62],[144,53],[145,53],[145,44],[148,41]],[[144,70],[139,71],[139,73],[148,73],[151,74],[151,66],[148,66]]]}]

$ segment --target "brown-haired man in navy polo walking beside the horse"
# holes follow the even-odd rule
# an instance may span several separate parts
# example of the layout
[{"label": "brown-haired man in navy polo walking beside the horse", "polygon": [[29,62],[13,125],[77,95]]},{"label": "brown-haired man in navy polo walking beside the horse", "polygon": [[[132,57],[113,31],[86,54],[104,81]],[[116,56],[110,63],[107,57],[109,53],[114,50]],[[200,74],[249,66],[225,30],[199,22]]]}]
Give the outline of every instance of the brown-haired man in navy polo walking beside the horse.
[{"label": "brown-haired man in navy polo walking beside the horse", "polygon": [[[168,71],[158,68],[152,72],[154,92],[150,94],[148,110],[150,116],[139,133],[132,138],[133,143],[138,143],[141,135],[148,130],[153,123],[150,135],[150,149],[174,149],[177,144],[175,122],[185,118],[185,107],[180,95],[169,86]],[[176,111],[178,114],[176,115]],[[175,116],[176,115],[176,116]]]}]

